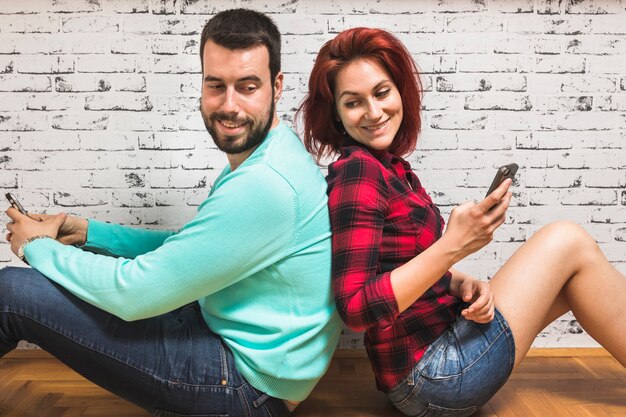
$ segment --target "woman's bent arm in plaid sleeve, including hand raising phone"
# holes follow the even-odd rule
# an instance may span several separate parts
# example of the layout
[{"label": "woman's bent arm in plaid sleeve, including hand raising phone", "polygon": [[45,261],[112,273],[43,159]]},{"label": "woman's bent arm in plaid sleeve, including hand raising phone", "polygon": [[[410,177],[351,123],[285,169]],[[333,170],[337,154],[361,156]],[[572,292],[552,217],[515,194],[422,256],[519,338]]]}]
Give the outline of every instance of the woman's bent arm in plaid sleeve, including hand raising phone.
[{"label": "woman's bent arm in plaid sleeve, including hand raising phone", "polygon": [[380,273],[388,209],[388,190],[380,167],[351,156],[330,172],[333,289],[339,314],[356,331],[373,325],[391,326],[452,265],[486,245],[504,222],[510,199],[509,181],[479,204],[455,208],[439,241],[391,273]]}]

